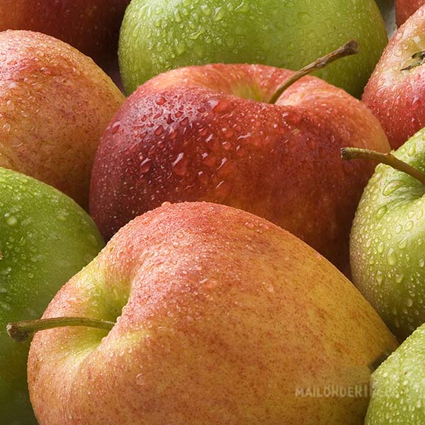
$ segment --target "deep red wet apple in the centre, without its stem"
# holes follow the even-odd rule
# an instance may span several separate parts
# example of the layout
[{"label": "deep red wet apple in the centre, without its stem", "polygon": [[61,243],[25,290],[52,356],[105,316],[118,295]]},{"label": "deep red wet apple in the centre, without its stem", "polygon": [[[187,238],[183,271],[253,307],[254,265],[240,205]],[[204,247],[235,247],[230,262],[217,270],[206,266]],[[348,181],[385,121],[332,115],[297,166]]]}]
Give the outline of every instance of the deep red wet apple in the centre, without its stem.
[{"label": "deep red wet apple in the centre, without its stem", "polygon": [[103,237],[164,201],[205,200],[265,217],[346,271],[373,164],[343,163],[340,148],[390,147],[363,103],[320,79],[298,81],[276,105],[262,102],[292,74],[213,64],[140,86],[96,154],[90,212]]}]

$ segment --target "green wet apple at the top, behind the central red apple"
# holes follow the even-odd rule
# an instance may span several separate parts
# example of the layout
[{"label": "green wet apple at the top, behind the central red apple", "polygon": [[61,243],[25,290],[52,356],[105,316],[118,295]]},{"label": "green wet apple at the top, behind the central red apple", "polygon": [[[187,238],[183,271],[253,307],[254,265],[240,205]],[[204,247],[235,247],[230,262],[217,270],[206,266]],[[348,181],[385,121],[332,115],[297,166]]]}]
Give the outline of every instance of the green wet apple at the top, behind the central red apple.
[{"label": "green wet apple at the top, behind the central red apple", "polygon": [[132,0],[120,30],[127,94],[169,69],[207,63],[255,63],[300,69],[356,38],[355,57],[317,72],[354,96],[387,44],[373,0]]}]

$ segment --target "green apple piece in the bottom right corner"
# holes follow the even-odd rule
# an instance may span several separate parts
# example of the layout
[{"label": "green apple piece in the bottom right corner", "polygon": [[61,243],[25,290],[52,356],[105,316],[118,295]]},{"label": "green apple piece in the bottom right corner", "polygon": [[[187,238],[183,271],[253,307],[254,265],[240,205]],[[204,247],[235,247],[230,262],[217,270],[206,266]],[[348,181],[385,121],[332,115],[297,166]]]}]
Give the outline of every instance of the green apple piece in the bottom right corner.
[{"label": "green apple piece in the bottom right corner", "polygon": [[365,425],[425,424],[425,325],[375,370]]}]

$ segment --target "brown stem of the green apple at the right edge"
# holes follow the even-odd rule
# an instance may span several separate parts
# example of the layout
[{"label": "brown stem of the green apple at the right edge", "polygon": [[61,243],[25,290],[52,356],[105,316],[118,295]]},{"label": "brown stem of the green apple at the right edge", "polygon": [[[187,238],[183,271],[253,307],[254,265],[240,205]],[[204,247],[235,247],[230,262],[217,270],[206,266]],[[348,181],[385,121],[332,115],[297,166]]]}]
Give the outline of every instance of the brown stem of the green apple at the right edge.
[{"label": "brown stem of the green apple at the right edge", "polygon": [[414,179],[420,181],[425,186],[425,174],[413,166],[396,158],[393,154],[382,154],[369,149],[361,149],[358,147],[343,147],[341,149],[341,157],[346,160],[350,159],[368,159],[369,161],[380,162],[392,166],[393,169],[409,174]]}]

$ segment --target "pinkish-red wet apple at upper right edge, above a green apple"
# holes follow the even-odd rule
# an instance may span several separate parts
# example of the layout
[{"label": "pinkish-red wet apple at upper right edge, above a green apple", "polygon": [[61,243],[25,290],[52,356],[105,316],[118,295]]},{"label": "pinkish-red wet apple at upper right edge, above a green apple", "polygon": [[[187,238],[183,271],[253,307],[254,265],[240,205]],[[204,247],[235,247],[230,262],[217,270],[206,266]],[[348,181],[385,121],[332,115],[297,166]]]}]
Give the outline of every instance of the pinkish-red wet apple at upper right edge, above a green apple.
[{"label": "pinkish-red wet apple at upper right edge, above a green apple", "polygon": [[402,70],[425,50],[425,6],[395,33],[370,76],[363,102],[380,120],[392,149],[425,127],[425,67]]}]

